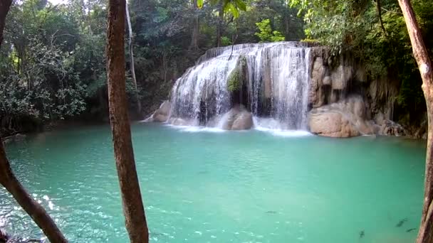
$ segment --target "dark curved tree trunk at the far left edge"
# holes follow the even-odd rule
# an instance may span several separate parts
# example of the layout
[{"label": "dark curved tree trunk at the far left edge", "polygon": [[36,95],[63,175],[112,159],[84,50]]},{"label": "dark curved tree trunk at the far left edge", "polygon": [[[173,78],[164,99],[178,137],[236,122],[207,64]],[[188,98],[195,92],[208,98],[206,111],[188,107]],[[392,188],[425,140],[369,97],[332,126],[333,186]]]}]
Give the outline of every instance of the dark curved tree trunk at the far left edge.
[{"label": "dark curved tree trunk at the far left edge", "polygon": [[[0,0],[0,48],[3,41],[3,30],[6,21],[6,14],[11,6],[11,0]],[[53,219],[47,214],[46,210],[36,202],[26,192],[23,185],[12,172],[11,165],[6,152],[3,148],[3,142],[0,138],[0,184],[14,196],[16,202],[30,215],[36,225],[40,227],[43,233],[51,242],[68,242],[63,234],[54,223]]]}]

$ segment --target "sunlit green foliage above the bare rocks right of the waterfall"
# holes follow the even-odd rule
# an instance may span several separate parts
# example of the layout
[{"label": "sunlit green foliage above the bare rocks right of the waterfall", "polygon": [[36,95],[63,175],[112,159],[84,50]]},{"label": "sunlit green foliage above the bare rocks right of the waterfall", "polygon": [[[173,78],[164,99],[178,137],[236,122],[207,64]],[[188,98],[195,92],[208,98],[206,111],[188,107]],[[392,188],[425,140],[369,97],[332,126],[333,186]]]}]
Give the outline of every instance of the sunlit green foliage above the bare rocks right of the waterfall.
[{"label": "sunlit green foliage above the bare rocks right of the waterfall", "polygon": [[[431,52],[433,39],[428,36],[433,34],[433,1],[411,2]],[[419,114],[426,108],[421,77],[397,1],[291,0],[290,3],[299,9],[300,16],[303,15],[307,38],[329,45],[334,55],[350,53],[365,64],[370,80],[381,77],[398,80],[400,114],[409,114],[414,119],[422,117]],[[380,16],[378,3],[381,4]]]}]

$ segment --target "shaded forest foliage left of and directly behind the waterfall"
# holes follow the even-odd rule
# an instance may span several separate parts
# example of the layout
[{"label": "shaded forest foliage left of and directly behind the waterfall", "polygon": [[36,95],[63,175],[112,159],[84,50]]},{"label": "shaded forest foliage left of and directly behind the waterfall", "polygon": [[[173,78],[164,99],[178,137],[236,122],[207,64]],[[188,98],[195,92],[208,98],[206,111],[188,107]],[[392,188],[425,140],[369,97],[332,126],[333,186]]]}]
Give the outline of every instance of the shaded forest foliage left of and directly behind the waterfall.
[{"label": "shaded forest foliage left of and directly behind the waterfall", "polygon": [[[106,4],[102,0],[66,0],[59,5],[46,0],[14,2],[0,50],[0,128],[19,129],[23,119],[43,123],[108,116]],[[254,35],[256,23],[264,19],[272,31],[281,33],[271,36],[303,38],[303,21],[286,0],[132,0],[130,10],[138,95],[146,113],[169,97],[173,82],[204,51],[216,46],[221,22],[222,45],[264,41]],[[194,18],[199,18],[197,50],[190,48]],[[127,93],[134,108],[129,60]]]}]

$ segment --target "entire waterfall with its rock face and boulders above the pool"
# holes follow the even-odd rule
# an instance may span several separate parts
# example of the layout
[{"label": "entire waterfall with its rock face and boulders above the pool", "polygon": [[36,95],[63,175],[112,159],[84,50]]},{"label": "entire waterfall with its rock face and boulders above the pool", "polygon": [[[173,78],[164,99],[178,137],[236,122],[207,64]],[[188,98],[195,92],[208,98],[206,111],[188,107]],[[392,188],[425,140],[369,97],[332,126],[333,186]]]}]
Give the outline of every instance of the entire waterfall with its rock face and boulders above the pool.
[{"label": "entire waterfall with its rock face and boulders above the pool", "polygon": [[332,56],[326,47],[240,44],[208,50],[148,120],[331,137],[405,134],[390,121],[396,92],[387,80],[368,83],[362,65]]}]

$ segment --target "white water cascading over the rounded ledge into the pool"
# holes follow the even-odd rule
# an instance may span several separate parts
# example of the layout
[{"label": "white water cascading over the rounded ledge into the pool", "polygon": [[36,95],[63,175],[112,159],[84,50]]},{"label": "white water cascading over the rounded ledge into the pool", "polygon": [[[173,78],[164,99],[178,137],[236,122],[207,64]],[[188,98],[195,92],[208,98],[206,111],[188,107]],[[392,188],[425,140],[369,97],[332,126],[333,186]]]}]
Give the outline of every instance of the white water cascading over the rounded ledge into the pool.
[{"label": "white water cascading over the rounded ledge into the pool", "polygon": [[[306,129],[310,48],[302,43],[241,44],[208,50],[172,89],[169,121],[217,126],[234,102],[254,115],[254,125],[269,129]],[[238,92],[231,73],[244,65]],[[236,96],[236,97],[234,97]]]}]

